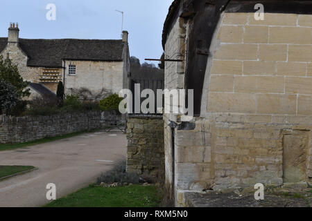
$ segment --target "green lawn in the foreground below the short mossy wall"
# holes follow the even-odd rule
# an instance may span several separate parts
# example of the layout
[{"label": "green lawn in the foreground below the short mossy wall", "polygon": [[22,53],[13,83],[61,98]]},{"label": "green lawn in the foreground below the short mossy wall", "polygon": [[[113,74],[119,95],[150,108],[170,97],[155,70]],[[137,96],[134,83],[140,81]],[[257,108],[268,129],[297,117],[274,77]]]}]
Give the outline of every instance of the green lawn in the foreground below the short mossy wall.
[{"label": "green lawn in the foreground below the short mossy wall", "polygon": [[157,207],[162,200],[155,186],[89,186],[46,207]]}]

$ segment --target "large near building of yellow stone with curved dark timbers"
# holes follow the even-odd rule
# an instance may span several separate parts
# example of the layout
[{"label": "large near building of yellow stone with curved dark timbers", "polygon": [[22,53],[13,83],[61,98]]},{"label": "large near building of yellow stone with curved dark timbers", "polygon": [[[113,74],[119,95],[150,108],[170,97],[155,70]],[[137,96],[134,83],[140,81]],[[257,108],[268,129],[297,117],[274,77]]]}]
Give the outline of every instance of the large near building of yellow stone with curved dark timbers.
[{"label": "large near building of yellow stone with curved dark timbers", "polygon": [[183,61],[166,61],[165,87],[194,89],[195,112],[193,122],[164,115],[166,186],[177,206],[189,192],[312,182],[311,9],[312,1],[173,1],[163,46]]}]

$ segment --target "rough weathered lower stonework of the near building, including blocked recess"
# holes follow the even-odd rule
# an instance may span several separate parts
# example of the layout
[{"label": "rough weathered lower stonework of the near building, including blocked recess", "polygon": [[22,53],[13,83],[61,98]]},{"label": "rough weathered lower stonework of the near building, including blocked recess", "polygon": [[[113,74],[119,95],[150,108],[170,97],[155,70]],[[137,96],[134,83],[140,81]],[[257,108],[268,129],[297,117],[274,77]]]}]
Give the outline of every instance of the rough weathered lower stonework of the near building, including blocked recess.
[{"label": "rough weathered lower stonework of the near building, including blocked recess", "polygon": [[[310,126],[304,126],[309,124]],[[312,182],[312,117],[211,114],[175,132],[176,203],[184,193]]]}]

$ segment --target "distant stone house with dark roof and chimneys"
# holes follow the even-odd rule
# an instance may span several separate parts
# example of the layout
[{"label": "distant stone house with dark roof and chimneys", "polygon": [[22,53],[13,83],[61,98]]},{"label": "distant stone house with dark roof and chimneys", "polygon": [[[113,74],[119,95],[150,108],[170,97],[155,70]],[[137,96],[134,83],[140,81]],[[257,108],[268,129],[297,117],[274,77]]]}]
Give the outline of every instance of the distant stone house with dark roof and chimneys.
[{"label": "distant stone house with dark roof and chimneys", "polygon": [[65,93],[80,88],[119,93],[129,87],[127,31],[121,40],[20,39],[18,24],[13,23],[8,38],[0,38],[0,55],[17,64],[25,81],[41,84],[53,93],[59,81],[64,83]]}]

